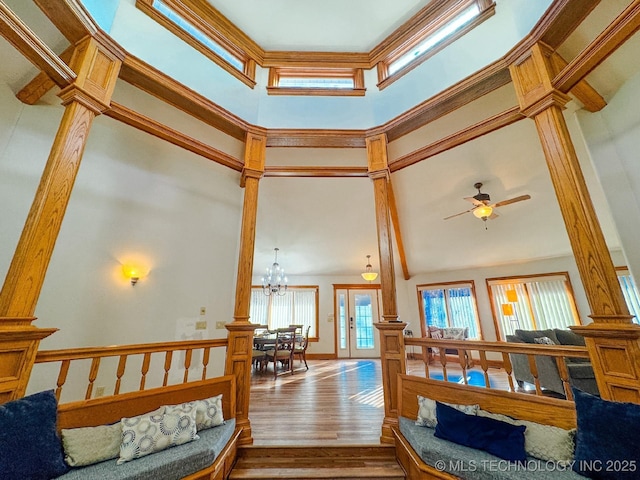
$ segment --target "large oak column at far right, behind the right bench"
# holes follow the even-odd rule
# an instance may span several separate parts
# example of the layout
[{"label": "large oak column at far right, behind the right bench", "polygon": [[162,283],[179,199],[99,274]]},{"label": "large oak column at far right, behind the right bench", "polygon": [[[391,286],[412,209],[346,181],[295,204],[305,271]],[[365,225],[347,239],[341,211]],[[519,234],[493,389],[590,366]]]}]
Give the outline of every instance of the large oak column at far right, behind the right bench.
[{"label": "large oak column at far right, behind the right bench", "polygon": [[510,66],[520,109],[534,119],[593,323],[584,335],[603,398],[640,403],[640,326],[631,316],[589,196],[562,110],[570,98],[552,85],[552,50],[537,44]]}]

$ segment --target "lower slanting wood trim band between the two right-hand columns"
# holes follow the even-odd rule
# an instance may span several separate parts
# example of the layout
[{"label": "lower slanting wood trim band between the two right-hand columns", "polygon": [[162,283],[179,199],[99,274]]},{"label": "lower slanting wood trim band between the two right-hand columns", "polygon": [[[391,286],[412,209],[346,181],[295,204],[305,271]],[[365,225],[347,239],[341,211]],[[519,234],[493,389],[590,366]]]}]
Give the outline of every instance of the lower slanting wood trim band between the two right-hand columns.
[{"label": "lower slanting wood trim band between the two right-hand columns", "polygon": [[486,120],[471,125],[463,130],[460,130],[452,135],[444,137],[436,142],[426,145],[418,150],[396,158],[389,162],[389,168],[392,172],[397,172],[405,167],[418,163],[422,160],[426,160],[429,157],[433,157],[439,153],[442,153],[451,148],[462,145],[463,143],[474,140],[478,137],[491,133],[495,130],[499,130],[502,127],[511,125],[519,120],[526,118],[520,113],[520,107],[512,107],[509,110],[505,110],[502,113],[489,117]]}]

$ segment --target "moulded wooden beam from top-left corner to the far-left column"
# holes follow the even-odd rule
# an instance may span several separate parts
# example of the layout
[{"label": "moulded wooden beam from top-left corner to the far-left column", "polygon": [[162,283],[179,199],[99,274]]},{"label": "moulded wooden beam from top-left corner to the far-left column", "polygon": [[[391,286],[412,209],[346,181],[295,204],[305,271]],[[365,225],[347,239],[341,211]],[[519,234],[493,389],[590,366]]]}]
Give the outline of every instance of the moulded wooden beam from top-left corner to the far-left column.
[{"label": "moulded wooden beam from top-left corner to the far-left column", "polygon": [[4,2],[0,2],[0,35],[6,38],[31,63],[45,72],[56,85],[66,87],[75,81],[75,72],[40,40]]}]

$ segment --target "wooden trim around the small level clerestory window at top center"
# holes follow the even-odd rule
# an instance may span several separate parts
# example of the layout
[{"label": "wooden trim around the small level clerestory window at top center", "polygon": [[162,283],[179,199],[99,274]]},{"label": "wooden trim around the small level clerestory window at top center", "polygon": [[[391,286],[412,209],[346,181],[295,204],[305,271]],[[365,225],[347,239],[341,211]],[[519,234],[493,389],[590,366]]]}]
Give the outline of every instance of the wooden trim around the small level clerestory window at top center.
[{"label": "wooden trim around the small level clerestory window at top center", "polygon": [[[281,78],[350,78],[353,88],[298,88],[278,86]],[[269,95],[364,96],[364,72],[361,68],[272,67],[269,69]]]}]

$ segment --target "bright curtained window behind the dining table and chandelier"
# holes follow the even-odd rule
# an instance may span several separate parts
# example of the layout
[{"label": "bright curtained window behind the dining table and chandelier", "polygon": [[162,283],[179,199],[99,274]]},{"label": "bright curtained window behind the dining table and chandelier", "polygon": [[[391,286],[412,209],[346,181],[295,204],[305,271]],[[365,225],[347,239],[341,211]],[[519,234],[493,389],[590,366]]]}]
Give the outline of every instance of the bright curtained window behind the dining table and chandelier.
[{"label": "bright curtained window behind the dining table and chandelier", "polygon": [[310,326],[309,338],[318,338],[318,287],[289,287],[284,295],[265,295],[262,287],[251,288],[251,323],[269,325],[269,329],[289,325]]}]

